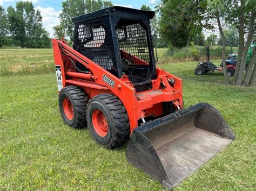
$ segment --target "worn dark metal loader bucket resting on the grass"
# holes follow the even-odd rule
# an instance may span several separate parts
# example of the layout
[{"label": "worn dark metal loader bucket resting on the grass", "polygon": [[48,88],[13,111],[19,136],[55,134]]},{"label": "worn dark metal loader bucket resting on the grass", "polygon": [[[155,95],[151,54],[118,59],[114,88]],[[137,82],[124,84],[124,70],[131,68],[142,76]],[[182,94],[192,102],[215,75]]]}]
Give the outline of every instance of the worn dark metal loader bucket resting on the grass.
[{"label": "worn dark metal loader bucket resting on the grass", "polygon": [[134,129],[126,158],[172,189],[234,138],[219,111],[199,103]]}]

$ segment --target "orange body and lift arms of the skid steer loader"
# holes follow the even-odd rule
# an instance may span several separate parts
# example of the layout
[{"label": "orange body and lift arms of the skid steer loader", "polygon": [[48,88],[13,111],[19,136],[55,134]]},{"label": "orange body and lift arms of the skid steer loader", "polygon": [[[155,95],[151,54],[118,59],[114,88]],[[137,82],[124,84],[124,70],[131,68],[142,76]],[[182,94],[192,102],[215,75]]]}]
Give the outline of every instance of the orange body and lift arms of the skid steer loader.
[{"label": "orange body and lift arms of the skid steer loader", "polygon": [[[97,63],[75,51],[63,41],[52,39],[55,65],[60,66],[63,88],[70,85],[82,87],[87,96],[110,93],[116,95],[127,111],[131,133],[138,126],[138,120],[147,116],[159,116],[163,113],[163,102],[175,102],[183,108],[181,79],[157,68],[157,79],[152,80],[152,89],[136,93],[132,83],[124,75],[121,79],[109,73]],[[68,54],[68,55],[67,55]],[[66,59],[71,58],[91,70],[90,74],[70,71],[64,66]],[[106,80],[110,79],[111,83]],[[171,86],[169,81],[175,81]]]}]

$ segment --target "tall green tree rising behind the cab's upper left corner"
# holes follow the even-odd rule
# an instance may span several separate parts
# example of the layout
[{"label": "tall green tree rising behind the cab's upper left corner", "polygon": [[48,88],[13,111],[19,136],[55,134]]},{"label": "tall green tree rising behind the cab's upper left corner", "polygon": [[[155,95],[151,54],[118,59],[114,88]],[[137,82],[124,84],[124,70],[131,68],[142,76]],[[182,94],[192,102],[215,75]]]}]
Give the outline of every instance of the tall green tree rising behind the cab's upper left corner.
[{"label": "tall green tree rising behind the cab's upper left corner", "polygon": [[62,2],[62,13],[59,15],[61,28],[57,27],[58,31],[55,30],[56,34],[63,35],[64,32],[65,36],[68,36],[73,41],[74,24],[71,18],[107,8],[108,6],[112,6],[111,1],[66,0]]}]

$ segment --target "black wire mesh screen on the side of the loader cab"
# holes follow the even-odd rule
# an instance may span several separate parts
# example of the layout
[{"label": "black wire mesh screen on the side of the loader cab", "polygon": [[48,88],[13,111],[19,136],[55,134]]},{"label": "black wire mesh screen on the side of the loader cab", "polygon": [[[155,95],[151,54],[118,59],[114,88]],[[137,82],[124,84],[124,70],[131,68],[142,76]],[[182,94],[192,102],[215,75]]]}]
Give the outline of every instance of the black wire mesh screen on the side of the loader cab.
[{"label": "black wire mesh screen on the side of the loader cab", "polygon": [[107,27],[101,20],[78,24],[76,42],[79,52],[104,69],[111,70],[113,58]]}]

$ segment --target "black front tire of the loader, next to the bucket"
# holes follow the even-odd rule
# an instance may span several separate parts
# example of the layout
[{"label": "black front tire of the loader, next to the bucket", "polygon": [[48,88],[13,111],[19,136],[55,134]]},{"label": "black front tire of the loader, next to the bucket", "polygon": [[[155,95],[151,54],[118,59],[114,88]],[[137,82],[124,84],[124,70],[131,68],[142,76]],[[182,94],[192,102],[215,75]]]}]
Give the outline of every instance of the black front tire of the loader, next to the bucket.
[{"label": "black front tire of the loader, next to the bucket", "polygon": [[[102,112],[107,121],[106,135],[100,136],[93,126],[95,115],[93,112]],[[122,145],[130,135],[130,123],[123,103],[112,94],[99,94],[87,103],[87,126],[92,138],[100,145],[107,148],[115,148]],[[100,119],[98,119],[100,121]],[[93,122],[92,122],[93,121]]]}]

